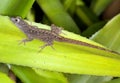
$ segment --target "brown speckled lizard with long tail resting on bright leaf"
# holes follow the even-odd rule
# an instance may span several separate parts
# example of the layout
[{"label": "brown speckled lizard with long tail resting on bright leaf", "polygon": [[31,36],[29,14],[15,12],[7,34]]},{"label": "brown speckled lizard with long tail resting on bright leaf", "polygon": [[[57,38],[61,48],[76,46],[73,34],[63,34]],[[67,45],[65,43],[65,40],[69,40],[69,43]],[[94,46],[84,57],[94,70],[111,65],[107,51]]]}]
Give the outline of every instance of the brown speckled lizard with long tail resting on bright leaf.
[{"label": "brown speckled lizard with long tail resting on bright leaf", "polygon": [[83,41],[60,36],[60,34],[62,33],[62,29],[55,26],[54,24],[51,25],[51,30],[47,30],[47,29],[38,28],[37,26],[29,25],[19,16],[11,17],[10,20],[27,36],[26,39],[23,39],[21,41],[21,43],[23,42],[24,44],[28,41],[32,41],[33,39],[38,39],[45,42],[45,44],[41,46],[41,49],[43,49],[46,46],[51,46],[53,48],[53,42],[58,41],[58,42],[67,42],[67,43],[87,46],[87,47],[96,48],[99,50],[104,50],[104,51],[119,54],[115,51],[108,50],[100,46],[96,46]]}]

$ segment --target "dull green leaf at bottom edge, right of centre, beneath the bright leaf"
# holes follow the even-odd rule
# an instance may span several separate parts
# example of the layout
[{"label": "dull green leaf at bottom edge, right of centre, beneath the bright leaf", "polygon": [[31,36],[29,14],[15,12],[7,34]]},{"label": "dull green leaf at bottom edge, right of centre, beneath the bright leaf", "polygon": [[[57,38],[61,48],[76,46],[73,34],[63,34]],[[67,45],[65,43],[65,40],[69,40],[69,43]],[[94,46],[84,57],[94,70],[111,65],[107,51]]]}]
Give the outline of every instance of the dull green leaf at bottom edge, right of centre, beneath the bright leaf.
[{"label": "dull green leaf at bottom edge, right of centre, beneath the bright leaf", "polygon": [[106,76],[67,75],[69,83],[104,83],[112,79]]}]

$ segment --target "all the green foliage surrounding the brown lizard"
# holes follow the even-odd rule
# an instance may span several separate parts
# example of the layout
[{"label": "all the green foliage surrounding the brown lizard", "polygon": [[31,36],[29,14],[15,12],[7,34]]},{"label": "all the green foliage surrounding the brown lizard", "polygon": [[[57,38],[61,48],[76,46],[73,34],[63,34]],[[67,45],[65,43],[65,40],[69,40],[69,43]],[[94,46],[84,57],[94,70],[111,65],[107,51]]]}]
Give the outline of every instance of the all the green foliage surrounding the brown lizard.
[{"label": "all the green foliage surrounding the brown lizard", "polygon": [[119,83],[119,54],[62,42],[38,53],[43,42],[18,45],[25,34],[10,21],[21,16],[43,29],[53,23],[64,29],[61,36],[120,53],[119,6],[119,0],[0,0],[0,83]]}]

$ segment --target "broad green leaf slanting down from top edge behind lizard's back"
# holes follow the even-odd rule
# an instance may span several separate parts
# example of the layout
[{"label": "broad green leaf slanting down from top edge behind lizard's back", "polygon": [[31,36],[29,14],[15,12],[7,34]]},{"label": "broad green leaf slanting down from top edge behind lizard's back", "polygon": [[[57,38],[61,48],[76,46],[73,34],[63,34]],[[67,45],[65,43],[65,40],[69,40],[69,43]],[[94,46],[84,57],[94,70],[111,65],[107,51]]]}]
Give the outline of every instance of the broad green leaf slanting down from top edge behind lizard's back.
[{"label": "broad green leaf slanting down from top edge behind lizard's back", "polygon": [[61,26],[66,30],[80,33],[76,23],[65,11],[63,5],[60,3],[60,0],[37,0],[37,3],[52,23]]}]

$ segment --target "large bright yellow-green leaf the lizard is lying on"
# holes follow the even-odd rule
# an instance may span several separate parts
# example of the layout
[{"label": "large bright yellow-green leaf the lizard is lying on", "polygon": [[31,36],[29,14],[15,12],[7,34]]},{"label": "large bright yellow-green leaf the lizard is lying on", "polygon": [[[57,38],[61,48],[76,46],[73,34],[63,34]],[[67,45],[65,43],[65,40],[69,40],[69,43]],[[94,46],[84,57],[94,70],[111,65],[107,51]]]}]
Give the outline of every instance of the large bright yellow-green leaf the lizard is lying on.
[{"label": "large bright yellow-green leaf the lizard is lying on", "polygon": [[[32,25],[50,29],[43,24]],[[66,34],[61,34],[64,37],[101,46],[82,36],[63,32]],[[64,42],[54,42],[55,50],[46,47],[38,52],[38,47],[43,45],[41,41],[33,40],[26,45],[18,45],[18,40],[22,38],[25,38],[25,34],[8,17],[0,16],[0,62],[65,73],[120,76],[118,54]]]}]

